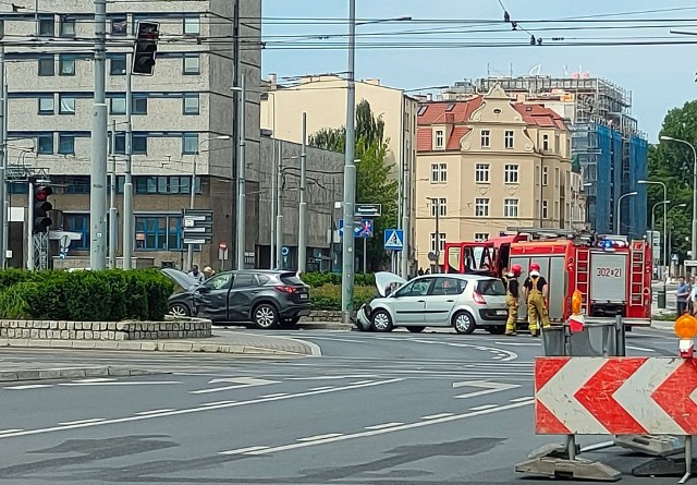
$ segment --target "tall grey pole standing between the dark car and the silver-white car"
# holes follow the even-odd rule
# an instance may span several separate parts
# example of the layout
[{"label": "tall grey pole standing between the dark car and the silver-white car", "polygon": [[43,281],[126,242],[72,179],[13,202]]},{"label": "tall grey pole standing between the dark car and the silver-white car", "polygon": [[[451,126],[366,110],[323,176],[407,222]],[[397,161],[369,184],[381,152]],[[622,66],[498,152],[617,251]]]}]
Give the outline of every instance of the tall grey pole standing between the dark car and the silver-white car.
[{"label": "tall grey pole standing between the dark car and the silver-white car", "polygon": [[353,235],[356,203],[356,165],[354,161],[356,122],[356,0],[348,2],[348,82],[346,88],[346,146],[344,149],[344,237],[341,271],[341,312],[344,324],[353,319],[353,284],[355,238]]}]

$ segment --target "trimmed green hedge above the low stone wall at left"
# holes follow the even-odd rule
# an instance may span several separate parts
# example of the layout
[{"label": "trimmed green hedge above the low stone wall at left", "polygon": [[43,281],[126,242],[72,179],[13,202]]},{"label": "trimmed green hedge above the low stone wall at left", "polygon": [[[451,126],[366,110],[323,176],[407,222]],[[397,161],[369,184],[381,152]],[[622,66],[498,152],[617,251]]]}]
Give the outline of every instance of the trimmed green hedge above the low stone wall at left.
[{"label": "trimmed green hedge above the low stone wall at left", "polygon": [[0,318],[162,320],[174,283],[158,269],[0,271]]}]

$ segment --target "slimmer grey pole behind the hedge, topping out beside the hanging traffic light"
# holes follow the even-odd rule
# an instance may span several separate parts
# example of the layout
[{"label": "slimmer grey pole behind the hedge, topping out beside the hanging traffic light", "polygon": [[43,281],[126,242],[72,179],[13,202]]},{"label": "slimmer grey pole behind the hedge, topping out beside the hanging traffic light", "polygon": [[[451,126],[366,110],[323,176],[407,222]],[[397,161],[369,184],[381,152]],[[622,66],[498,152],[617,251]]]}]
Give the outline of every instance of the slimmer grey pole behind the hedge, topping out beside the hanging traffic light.
[{"label": "slimmer grey pole behind the hedge, topping out beside the hanging traffic light", "polygon": [[[134,47],[135,48],[135,47]],[[133,54],[126,54],[126,133],[123,184],[123,269],[133,267]]]}]

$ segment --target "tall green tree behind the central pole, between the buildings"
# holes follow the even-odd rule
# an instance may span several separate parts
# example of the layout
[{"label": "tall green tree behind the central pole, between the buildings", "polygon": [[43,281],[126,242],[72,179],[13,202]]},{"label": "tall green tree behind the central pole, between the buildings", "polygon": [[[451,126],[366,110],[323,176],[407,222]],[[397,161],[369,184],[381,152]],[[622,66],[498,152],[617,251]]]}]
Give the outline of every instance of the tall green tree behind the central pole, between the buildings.
[{"label": "tall green tree behind the central pole, between the buildings", "polygon": [[[396,225],[398,182],[392,177],[392,165],[384,162],[388,140],[384,138],[384,121],[375,117],[365,99],[356,107],[355,126],[356,203],[380,204],[382,215],[375,221],[375,235],[367,241],[369,268],[378,269],[388,260],[382,247],[384,230]],[[309,136],[309,144],[318,148],[344,153],[346,128],[322,129]],[[356,254],[363,256],[363,241],[356,240]]]}]

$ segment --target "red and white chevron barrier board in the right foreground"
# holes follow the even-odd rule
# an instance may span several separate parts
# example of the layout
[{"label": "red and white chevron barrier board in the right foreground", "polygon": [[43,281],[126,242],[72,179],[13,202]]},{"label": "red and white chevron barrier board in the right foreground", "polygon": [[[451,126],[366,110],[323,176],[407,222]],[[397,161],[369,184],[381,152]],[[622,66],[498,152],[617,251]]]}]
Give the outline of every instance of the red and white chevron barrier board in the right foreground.
[{"label": "red and white chevron barrier board in the right foreground", "polygon": [[697,435],[697,362],[673,357],[538,357],[541,435]]}]

